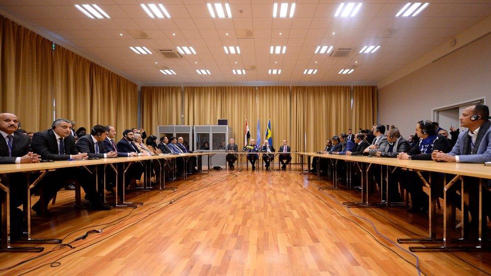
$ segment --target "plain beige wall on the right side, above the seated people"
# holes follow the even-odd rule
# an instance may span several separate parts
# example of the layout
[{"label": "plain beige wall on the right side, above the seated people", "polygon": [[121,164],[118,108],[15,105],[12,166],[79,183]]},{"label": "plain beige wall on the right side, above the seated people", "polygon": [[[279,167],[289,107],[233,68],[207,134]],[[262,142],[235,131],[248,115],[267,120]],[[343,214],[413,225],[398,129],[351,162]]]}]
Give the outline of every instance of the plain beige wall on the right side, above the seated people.
[{"label": "plain beige wall on the right side, above the seated people", "polygon": [[[379,90],[379,123],[407,137],[432,109],[485,97],[491,103],[491,34]],[[448,126],[442,126],[447,128]]]}]

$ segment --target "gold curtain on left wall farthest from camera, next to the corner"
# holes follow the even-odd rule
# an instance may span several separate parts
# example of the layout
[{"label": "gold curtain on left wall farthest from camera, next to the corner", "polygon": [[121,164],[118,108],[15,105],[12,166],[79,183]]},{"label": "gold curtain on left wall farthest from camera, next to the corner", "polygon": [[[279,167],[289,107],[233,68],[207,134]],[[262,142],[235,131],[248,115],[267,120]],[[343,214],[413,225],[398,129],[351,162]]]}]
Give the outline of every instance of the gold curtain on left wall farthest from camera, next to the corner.
[{"label": "gold curtain on left wall farthest from camera, next to the corner", "polygon": [[135,83],[103,68],[91,66],[91,127],[112,125],[117,139],[125,129],[138,124],[138,87]]}]

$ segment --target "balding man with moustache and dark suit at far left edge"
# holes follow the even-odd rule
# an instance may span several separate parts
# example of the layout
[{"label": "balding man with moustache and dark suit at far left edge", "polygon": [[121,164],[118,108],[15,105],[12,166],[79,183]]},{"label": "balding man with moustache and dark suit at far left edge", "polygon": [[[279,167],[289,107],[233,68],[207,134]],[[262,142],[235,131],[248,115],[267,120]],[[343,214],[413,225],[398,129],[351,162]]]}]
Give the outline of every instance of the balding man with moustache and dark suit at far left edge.
[{"label": "balding man with moustache and dark suit at far left edge", "polygon": [[[12,113],[0,113],[0,164],[37,163],[39,155],[29,151],[30,139],[18,132],[19,118]],[[2,183],[10,190],[10,225],[12,238],[22,236],[23,219],[18,207],[26,202],[27,175],[24,173],[9,173]],[[3,192],[2,192],[3,193]],[[0,197],[2,202],[3,196]]]}]

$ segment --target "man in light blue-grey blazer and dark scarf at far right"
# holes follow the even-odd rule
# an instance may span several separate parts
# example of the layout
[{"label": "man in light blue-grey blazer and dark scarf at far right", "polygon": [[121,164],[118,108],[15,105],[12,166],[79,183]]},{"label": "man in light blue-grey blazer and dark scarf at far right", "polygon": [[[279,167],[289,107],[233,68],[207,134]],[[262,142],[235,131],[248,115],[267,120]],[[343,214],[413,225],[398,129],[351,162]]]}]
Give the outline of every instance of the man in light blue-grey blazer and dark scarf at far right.
[{"label": "man in light blue-grey blazer and dark scarf at far right", "polygon": [[[440,162],[458,163],[485,163],[491,161],[491,121],[489,121],[489,108],[485,105],[475,105],[464,109],[459,118],[460,126],[467,128],[459,134],[453,149],[447,154],[434,150],[432,159]],[[478,215],[478,179],[465,177],[464,183],[469,183],[469,211],[472,219]],[[473,183],[473,185],[472,185]],[[491,181],[484,181],[485,186],[491,188]],[[483,212],[490,213],[489,192],[483,189]],[[443,191],[443,189],[439,189]],[[441,194],[441,193],[440,193]],[[459,201],[460,202],[460,201]]]}]

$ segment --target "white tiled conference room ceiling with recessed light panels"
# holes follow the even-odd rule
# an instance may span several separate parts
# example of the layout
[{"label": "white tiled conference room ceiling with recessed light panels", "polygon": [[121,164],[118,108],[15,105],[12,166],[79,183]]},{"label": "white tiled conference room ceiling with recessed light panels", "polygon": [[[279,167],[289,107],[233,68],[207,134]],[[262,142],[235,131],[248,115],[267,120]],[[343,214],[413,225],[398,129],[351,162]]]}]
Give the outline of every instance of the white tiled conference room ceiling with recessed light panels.
[{"label": "white tiled conference room ceiling with recessed light panels", "polygon": [[[212,18],[207,3],[229,3],[231,18],[218,14]],[[278,17],[281,3],[296,3],[293,18],[288,17],[291,6],[286,18],[273,18],[274,3],[279,3]],[[396,17],[407,4],[397,0],[353,1],[363,3],[355,17],[335,17],[340,3],[0,0],[0,9],[140,84],[375,82],[491,15],[491,0],[433,0],[416,17]],[[97,4],[110,19],[90,19],[74,7],[77,4]],[[162,4],[171,18],[151,19],[140,4]],[[147,38],[135,39],[135,35]],[[324,45],[334,46],[331,53],[348,56],[314,53]],[[374,53],[359,53],[364,46],[379,45]],[[129,48],[135,46],[152,54],[136,54]],[[159,53],[162,49],[177,53],[178,46],[193,47],[196,54],[191,49],[182,58]],[[228,46],[239,46],[240,54],[230,54]],[[280,53],[271,54],[271,46]],[[161,69],[176,74],[166,75]],[[269,74],[270,69],[276,69],[276,74]],[[306,69],[312,70],[304,74]],[[349,72],[342,69],[354,70],[340,74]]]}]

